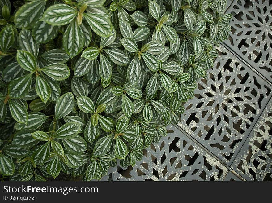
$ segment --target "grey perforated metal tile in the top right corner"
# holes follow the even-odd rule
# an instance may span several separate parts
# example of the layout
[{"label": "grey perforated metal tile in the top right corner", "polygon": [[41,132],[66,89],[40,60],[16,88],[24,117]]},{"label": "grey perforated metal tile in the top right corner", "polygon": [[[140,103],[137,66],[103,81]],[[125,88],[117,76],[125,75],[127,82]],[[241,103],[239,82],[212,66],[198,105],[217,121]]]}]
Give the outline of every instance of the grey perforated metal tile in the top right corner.
[{"label": "grey perforated metal tile in the top right corner", "polygon": [[224,43],[272,83],[272,1],[235,0],[227,13],[232,31]]}]

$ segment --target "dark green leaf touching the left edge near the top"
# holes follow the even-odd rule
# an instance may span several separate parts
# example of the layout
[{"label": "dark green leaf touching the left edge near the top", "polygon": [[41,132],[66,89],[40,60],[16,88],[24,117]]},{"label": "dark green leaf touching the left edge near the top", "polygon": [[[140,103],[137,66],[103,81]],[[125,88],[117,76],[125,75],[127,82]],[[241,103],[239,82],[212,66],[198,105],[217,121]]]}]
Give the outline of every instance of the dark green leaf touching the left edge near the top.
[{"label": "dark green leaf touching the left edge near the top", "polygon": [[12,26],[6,26],[0,32],[0,48],[3,52],[9,50],[14,43],[14,32]]}]

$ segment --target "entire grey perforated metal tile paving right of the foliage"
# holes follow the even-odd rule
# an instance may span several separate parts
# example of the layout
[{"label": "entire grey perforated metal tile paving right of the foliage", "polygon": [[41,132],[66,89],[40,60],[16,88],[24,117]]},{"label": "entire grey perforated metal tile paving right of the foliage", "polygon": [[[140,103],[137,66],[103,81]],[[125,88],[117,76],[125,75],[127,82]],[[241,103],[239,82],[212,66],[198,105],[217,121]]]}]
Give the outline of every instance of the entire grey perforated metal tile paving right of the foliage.
[{"label": "entire grey perforated metal tile paving right of the foliage", "polygon": [[102,181],[272,180],[272,1],[228,0],[229,40],[178,126]]}]

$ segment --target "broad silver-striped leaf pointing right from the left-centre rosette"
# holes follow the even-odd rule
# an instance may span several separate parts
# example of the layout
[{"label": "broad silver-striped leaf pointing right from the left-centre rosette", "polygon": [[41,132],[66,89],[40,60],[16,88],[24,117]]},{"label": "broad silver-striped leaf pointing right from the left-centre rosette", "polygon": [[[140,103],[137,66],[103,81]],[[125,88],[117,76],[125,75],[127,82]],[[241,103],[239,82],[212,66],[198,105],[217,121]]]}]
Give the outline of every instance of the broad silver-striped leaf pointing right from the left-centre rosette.
[{"label": "broad silver-striped leaf pointing right from the left-centre rosette", "polygon": [[63,63],[50,64],[42,68],[41,71],[57,81],[65,80],[70,75],[68,66]]}]

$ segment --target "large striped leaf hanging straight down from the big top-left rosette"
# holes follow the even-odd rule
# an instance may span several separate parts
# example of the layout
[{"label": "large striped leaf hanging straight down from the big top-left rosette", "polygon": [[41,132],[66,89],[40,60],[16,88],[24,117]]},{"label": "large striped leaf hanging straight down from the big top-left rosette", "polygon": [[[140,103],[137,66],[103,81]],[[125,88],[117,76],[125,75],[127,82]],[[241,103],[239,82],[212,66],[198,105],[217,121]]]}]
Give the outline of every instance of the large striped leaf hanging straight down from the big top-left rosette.
[{"label": "large striped leaf hanging straight down from the big top-left rosette", "polygon": [[71,58],[78,55],[83,49],[83,31],[80,26],[77,25],[76,20],[73,20],[65,30],[62,38],[62,44],[64,50]]}]

